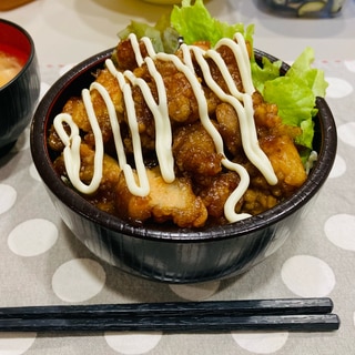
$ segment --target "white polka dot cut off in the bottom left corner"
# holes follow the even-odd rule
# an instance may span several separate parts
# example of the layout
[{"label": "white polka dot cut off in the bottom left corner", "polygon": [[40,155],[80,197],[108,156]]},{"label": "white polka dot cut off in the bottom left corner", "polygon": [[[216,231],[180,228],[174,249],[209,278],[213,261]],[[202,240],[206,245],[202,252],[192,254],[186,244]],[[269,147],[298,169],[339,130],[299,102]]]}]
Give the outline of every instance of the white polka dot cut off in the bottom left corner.
[{"label": "white polka dot cut off in the bottom left corner", "polygon": [[0,333],[0,355],[24,354],[34,343],[36,333]]}]

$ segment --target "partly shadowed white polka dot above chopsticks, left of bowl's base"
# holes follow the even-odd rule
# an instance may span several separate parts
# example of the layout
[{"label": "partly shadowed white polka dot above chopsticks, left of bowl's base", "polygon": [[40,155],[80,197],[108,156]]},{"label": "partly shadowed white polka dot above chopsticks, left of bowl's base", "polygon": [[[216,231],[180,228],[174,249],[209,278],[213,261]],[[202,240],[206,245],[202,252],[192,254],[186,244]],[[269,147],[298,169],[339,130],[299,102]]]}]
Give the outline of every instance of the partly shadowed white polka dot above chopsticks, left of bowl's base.
[{"label": "partly shadowed white polka dot above chopsticks, left of bowl's base", "polygon": [[57,268],[52,287],[57,296],[65,302],[83,302],[101,292],[105,278],[105,272],[98,262],[74,258]]}]

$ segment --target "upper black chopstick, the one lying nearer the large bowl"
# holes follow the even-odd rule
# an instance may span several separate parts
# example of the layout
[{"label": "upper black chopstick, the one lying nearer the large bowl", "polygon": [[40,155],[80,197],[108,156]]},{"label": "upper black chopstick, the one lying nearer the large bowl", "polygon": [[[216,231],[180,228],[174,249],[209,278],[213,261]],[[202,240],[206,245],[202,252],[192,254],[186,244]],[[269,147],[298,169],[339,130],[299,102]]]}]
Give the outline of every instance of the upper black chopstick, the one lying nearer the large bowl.
[{"label": "upper black chopstick, the one lying nearer the large bowl", "polygon": [[29,307],[0,307],[3,318],[47,317],[114,317],[114,316],[165,316],[165,315],[287,315],[326,314],[333,311],[328,297],[274,298],[243,301],[164,302],[133,304],[58,305]]}]

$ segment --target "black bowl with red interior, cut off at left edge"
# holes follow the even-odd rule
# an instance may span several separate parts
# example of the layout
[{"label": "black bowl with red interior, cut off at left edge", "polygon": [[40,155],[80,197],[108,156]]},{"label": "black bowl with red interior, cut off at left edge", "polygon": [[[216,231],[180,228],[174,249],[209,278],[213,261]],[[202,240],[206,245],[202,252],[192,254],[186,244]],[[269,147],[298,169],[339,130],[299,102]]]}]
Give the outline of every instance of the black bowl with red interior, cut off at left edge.
[{"label": "black bowl with red interior, cut off at left edge", "polygon": [[0,87],[0,156],[6,154],[30,123],[40,95],[40,70],[34,43],[16,23],[0,19],[0,50],[22,55],[21,71]]}]

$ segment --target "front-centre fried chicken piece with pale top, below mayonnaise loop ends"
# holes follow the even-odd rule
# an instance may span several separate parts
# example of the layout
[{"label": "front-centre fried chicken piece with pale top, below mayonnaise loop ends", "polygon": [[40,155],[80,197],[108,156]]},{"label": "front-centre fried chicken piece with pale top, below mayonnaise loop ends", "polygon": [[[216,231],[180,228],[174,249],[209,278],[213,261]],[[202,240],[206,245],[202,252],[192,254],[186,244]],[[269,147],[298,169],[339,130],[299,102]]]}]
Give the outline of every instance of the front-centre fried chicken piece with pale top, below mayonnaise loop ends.
[{"label": "front-centre fried chicken piece with pale top, below mayonnaise loop ends", "polygon": [[207,220],[207,210],[201,197],[192,191],[190,179],[178,178],[164,182],[160,170],[146,170],[150,193],[141,197],[130,193],[123,174],[116,185],[116,210],[120,215],[135,222],[172,221],[180,227],[200,227]]}]

